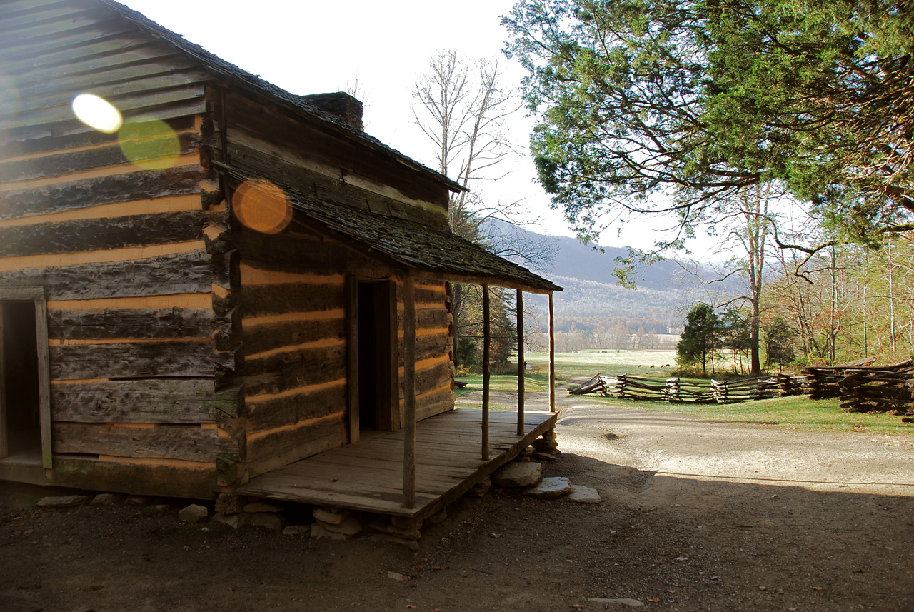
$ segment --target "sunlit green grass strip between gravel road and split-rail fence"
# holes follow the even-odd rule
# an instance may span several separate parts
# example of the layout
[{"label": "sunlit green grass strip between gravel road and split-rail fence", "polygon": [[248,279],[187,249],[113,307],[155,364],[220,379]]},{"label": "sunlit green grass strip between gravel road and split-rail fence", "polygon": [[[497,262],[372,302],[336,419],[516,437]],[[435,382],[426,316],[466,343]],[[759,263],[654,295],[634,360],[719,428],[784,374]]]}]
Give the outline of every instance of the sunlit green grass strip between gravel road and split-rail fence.
[{"label": "sunlit green grass strip between gravel road and split-rail fence", "polygon": [[672,412],[712,421],[802,429],[805,431],[866,432],[914,436],[914,427],[897,415],[845,412],[837,399],[812,400],[806,396],[775,397],[736,404],[673,404],[589,396],[601,405],[654,412]]}]

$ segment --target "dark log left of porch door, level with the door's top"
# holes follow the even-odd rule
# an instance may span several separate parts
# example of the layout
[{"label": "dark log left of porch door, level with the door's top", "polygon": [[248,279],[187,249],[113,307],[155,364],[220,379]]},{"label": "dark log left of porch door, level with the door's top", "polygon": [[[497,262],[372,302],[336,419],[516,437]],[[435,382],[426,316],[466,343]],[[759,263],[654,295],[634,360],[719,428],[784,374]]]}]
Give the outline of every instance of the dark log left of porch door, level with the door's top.
[{"label": "dark log left of porch door, level with the door's top", "polygon": [[286,283],[246,285],[240,290],[244,316],[315,312],[343,308],[344,284]]}]

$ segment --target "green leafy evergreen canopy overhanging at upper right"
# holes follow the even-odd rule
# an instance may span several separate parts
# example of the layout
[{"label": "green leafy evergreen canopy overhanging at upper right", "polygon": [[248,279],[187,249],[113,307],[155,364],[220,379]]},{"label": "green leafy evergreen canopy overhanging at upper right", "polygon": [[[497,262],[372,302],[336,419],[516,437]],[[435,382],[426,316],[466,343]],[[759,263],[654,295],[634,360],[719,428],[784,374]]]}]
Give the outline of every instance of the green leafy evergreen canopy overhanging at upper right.
[{"label": "green leafy evergreen canopy overhanging at upper right", "polygon": [[625,210],[688,228],[771,181],[837,237],[914,227],[910,0],[523,0],[504,23],[581,237]]}]

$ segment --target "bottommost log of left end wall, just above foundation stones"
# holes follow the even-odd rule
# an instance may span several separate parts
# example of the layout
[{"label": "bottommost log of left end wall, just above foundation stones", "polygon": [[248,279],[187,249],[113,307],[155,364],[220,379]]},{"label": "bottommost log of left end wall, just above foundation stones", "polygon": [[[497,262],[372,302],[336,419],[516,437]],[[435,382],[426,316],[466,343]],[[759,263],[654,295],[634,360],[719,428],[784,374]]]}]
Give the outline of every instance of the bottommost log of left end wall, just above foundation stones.
[{"label": "bottommost log of left end wall, just above foundation stones", "polygon": [[48,484],[88,491],[116,491],[195,500],[212,499],[217,489],[215,468],[137,465],[98,459],[55,457]]}]

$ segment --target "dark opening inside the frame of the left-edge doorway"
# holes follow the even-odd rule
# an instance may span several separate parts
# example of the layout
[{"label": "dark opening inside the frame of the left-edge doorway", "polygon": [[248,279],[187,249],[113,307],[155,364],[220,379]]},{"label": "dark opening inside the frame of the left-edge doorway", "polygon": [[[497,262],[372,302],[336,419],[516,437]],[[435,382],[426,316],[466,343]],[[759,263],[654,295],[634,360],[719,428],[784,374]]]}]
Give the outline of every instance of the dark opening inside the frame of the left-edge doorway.
[{"label": "dark opening inside the frame of the left-edge doorway", "polygon": [[0,301],[2,311],[2,389],[5,423],[0,435],[6,452],[15,456],[41,450],[41,417],[38,382],[35,302]]}]

